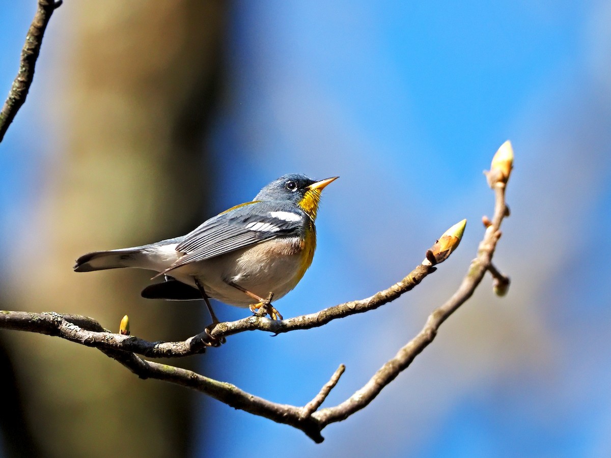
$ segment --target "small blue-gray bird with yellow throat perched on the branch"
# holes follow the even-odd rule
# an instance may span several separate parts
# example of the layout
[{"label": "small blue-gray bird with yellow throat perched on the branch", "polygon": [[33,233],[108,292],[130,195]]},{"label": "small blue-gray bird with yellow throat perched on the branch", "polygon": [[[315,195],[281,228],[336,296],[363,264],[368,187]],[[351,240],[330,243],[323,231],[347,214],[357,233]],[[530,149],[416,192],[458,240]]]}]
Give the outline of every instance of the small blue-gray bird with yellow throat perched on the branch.
[{"label": "small blue-gray bird with yellow throat perched on the branch", "polygon": [[[138,267],[164,275],[147,286],[149,299],[204,299],[237,307],[261,307],[272,319],[282,315],[271,307],[295,288],[312,263],[316,248],[314,221],[321,191],[337,176],[315,181],[301,174],[280,176],[255,196],[210,218],[182,237],[141,247],[98,251],[76,260],[76,272]],[[255,302],[255,304],[253,304]]]}]

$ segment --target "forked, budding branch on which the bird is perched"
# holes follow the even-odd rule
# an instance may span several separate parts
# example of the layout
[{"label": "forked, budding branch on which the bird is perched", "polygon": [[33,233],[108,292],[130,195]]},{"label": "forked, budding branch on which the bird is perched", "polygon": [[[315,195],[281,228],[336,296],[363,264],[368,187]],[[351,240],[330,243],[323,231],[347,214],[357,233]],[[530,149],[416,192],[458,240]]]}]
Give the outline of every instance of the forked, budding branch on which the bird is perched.
[{"label": "forked, budding branch on which the bird is perched", "polygon": [[[205,333],[189,338],[184,342],[147,342],[134,336],[113,334],[104,330],[101,325],[87,317],[60,315],[57,313],[27,313],[19,311],[0,311],[0,328],[26,330],[78,342],[86,346],[97,347],[109,357],[119,361],[141,378],[153,378],[177,383],[189,387],[208,396],[218,399],[235,409],[241,409],[254,415],[264,416],[277,423],[289,424],[303,431],[315,442],[322,442],[321,431],[328,424],[342,421],[360,409],[370,404],[398,374],[408,368],[423,349],[426,348],[437,335],[441,324],[454,313],[458,307],[472,296],[480,285],[486,272],[491,272],[496,283],[502,282],[504,291],[495,291],[497,294],[507,292],[509,279],[492,265],[492,256],[500,238],[500,225],[508,216],[505,203],[505,187],[513,166],[513,150],[509,142],[499,148],[492,160],[491,170],[486,172],[488,183],[494,190],[495,206],[492,220],[485,217],[486,227],[483,240],[480,242],[477,257],[472,261],[463,282],[456,293],[430,314],[423,329],[408,344],[403,346],[387,363],[385,363],[352,396],[334,407],[318,410],[329,392],[335,387],[344,371],[344,366],[335,371],[329,382],[321,388],[320,392],[304,407],[278,404],[253,394],[246,393],[230,383],[219,382],[208,377],[177,368],[143,360],[134,352],[149,357],[178,357],[205,351],[203,336]],[[434,272],[434,264],[441,263],[458,246],[463,235],[466,221],[454,225],[446,231],[441,238],[426,251],[426,258],[409,275],[390,288],[379,291],[371,297],[345,304],[335,305],[317,313],[307,314],[285,321],[271,321],[267,318],[253,316],[234,322],[217,324],[211,334],[215,338],[222,338],[238,332],[248,330],[263,330],[280,333],[297,329],[310,329],[326,324],[334,319],[343,318],[354,313],[363,313],[381,307],[401,294],[418,285],[426,275]],[[500,280],[502,278],[503,280]],[[497,288],[498,285],[495,285]],[[125,331],[126,323],[122,322]]]}]

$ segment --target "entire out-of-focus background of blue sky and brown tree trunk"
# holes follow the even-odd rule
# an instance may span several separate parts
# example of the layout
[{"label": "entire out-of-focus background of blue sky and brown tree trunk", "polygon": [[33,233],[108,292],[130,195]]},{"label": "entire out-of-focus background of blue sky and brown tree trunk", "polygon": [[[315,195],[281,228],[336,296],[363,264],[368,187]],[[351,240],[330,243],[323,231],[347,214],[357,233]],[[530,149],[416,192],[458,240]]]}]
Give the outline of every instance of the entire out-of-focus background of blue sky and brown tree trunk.
[{"label": "entire out-of-focus background of blue sky and brown tree trunk", "polygon": [[[7,93],[34,1],[0,7]],[[147,272],[75,274],[84,252],[176,236],[288,172],[324,191],[314,263],[276,307],[310,313],[402,278],[446,228],[460,248],[412,293],[322,329],[243,333],[172,363],[335,405],[458,286],[516,154],[496,264],[434,343],[366,409],[301,432],[100,352],[0,332],[6,456],[611,456],[611,3],[71,2],[0,145],[1,307],[93,316],[183,340],[198,304],[146,301]],[[245,316],[216,304],[221,319]],[[0,453],[1,454],[1,453]]]}]

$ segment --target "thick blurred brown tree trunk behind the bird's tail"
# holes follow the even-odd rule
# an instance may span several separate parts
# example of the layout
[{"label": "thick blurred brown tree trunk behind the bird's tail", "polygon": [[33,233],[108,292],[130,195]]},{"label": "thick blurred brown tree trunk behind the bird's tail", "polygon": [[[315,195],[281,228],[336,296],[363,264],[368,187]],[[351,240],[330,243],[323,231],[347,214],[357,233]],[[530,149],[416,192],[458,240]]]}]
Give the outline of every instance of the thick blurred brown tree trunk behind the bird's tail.
[{"label": "thick blurred brown tree trunk behind the bird's tail", "polygon": [[[201,222],[224,5],[68,2],[53,17],[69,42],[45,44],[65,49],[62,68],[55,81],[39,74],[34,84],[52,94],[49,135],[58,140],[49,143],[62,150],[49,155],[37,220],[15,248],[5,306],[89,315],[112,330],[129,314],[133,334],[149,340],[203,329],[208,318],[197,302],[141,299],[150,272],[76,274],[71,267],[82,253],[177,236]],[[189,391],[139,380],[92,349],[6,336],[25,418],[44,456],[188,453],[197,405]]]}]

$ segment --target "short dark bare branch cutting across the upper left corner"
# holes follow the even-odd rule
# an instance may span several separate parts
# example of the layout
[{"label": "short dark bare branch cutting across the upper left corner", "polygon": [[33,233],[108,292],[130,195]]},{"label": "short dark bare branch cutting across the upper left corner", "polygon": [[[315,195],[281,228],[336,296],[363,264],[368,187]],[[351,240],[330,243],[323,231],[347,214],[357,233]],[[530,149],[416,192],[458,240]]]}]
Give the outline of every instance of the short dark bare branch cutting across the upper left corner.
[{"label": "short dark bare branch cutting across the upper left corner", "polygon": [[17,111],[26,101],[27,92],[34,81],[34,67],[40,46],[42,46],[42,38],[45,34],[45,29],[51,19],[53,12],[60,7],[62,0],[57,2],[51,0],[38,0],[38,6],[34,15],[34,20],[27,31],[26,43],[21,49],[21,59],[19,63],[19,71],[10,88],[9,96],[2,106],[0,111],[0,142],[4,139],[4,134],[13,122]]}]

